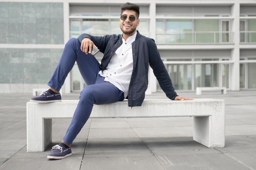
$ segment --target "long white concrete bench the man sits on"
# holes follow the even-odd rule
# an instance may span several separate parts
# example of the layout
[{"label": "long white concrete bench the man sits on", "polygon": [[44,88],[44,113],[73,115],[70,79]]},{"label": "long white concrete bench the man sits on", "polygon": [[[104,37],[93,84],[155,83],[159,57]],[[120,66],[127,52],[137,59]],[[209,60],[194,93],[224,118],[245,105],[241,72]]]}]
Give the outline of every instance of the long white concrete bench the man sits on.
[{"label": "long white concrete bench the man sits on", "polygon": [[[72,118],[78,100],[27,102],[27,152],[42,152],[52,141],[52,118]],[[145,100],[94,105],[90,118],[194,117],[193,139],[209,148],[225,145],[224,100]]]}]

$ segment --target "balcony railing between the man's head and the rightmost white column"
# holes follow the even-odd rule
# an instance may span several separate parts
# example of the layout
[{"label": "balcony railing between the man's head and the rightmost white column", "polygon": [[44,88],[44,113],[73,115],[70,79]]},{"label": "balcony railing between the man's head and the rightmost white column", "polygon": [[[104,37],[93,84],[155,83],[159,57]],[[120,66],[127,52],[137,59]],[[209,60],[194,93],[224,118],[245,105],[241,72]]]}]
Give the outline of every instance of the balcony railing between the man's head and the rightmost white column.
[{"label": "balcony railing between the man's head and the rightmost white column", "polygon": [[157,44],[231,44],[233,32],[157,33]]}]

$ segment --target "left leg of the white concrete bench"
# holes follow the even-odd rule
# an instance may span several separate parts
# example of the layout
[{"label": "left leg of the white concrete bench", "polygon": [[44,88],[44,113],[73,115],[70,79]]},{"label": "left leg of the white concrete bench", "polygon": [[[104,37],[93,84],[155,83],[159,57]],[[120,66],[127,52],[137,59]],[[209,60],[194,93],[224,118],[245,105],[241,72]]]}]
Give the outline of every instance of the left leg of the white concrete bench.
[{"label": "left leg of the white concrete bench", "polygon": [[52,142],[52,119],[42,119],[27,109],[27,152],[43,152]]}]

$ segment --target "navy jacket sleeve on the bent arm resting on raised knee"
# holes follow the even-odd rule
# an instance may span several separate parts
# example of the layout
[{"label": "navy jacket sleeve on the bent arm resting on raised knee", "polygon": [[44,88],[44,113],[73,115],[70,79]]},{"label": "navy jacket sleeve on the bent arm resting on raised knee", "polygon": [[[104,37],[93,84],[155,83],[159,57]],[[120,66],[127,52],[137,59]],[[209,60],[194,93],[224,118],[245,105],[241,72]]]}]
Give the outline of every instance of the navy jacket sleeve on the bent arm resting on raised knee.
[{"label": "navy jacket sleeve on the bent arm resting on raised knee", "polygon": [[104,53],[108,44],[108,41],[112,38],[113,35],[104,35],[104,36],[93,36],[90,34],[81,34],[78,39],[81,43],[84,38],[90,38],[93,43],[98,47],[99,51]]}]

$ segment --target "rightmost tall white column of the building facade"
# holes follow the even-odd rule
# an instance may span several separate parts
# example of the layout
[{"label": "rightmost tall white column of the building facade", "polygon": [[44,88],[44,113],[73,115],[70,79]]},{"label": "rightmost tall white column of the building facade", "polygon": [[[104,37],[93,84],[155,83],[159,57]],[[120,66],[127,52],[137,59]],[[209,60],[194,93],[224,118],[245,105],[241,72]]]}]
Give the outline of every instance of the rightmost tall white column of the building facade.
[{"label": "rightmost tall white column of the building facade", "polygon": [[240,89],[240,80],[239,80],[239,58],[240,58],[240,32],[239,32],[239,24],[240,24],[240,4],[239,0],[235,0],[234,5],[232,6],[232,15],[234,16],[234,22],[232,25],[232,29],[234,32],[234,44],[235,48],[231,51],[231,59],[234,61],[234,64],[231,64],[231,90],[239,90]]}]

